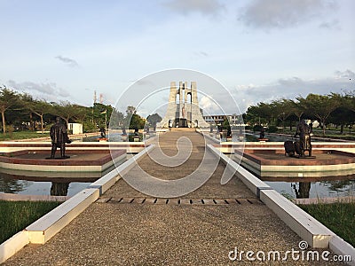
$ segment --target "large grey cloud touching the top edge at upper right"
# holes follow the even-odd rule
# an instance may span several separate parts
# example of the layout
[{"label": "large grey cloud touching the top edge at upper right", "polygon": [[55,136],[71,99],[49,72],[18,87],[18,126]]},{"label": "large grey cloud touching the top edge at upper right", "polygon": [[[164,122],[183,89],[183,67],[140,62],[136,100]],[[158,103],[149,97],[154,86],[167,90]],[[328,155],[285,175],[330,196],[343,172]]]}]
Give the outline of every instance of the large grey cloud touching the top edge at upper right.
[{"label": "large grey cloud touching the top edge at upper right", "polygon": [[332,0],[255,0],[250,3],[239,20],[248,27],[260,28],[294,27],[319,19],[337,7]]}]

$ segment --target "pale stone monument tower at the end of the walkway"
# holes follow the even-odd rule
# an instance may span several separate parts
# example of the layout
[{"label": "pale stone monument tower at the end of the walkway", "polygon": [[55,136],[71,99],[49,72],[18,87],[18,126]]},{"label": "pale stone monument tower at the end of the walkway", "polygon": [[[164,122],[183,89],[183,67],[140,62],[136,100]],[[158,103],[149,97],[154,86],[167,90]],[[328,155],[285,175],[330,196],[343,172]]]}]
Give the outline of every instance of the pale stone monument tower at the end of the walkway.
[{"label": "pale stone monument tower at the end of the walkway", "polygon": [[170,82],[170,97],[167,113],[159,123],[161,128],[208,128],[209,124],[203,120],[199,101],[197,99],[196,82]]}]

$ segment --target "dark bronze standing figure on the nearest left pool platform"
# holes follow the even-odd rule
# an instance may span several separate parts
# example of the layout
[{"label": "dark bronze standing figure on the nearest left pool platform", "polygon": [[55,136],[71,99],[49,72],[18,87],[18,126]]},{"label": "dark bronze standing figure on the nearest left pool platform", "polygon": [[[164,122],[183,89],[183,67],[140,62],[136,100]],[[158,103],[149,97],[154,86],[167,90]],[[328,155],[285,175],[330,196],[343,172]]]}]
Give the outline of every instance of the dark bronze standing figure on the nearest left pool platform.
[{"label": "dark bronze standing figure on the nearest left pool platform", "polygon": [[60,158],[70,158],[66,156],[66,143],[71,143],[69,137],[67,137],[67,127],[62,123],[60,117],[56,118],[56,123],[51,126],[51,159],[54,159],[54,155],[57,148],[60,149]]}]

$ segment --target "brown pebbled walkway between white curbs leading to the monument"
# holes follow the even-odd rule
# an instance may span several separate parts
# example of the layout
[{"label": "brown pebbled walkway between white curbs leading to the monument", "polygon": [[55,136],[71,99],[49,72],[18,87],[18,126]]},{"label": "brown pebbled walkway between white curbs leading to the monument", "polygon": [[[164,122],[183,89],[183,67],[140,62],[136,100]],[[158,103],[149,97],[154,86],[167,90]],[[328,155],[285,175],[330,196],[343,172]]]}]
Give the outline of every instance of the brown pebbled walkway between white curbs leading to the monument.
[{"label": "brown pebbled walkway between white curbs leading to the monument", "polygon": [[[175,142],[181,134],[162,135],[162,150],[169,155],[177,153]],[[139,166],[162,179],[193,172],[201,162],[205,144],[197,133],[184,135],[192,141],[193,153],[182,166],[164,168],[148,156]],[[46,244],[26,246],[4,265],[257,265],[266,262],[248,262],[245,255],[241,262],[232,262],[228,254],[235,247],[266,254],[299,250],[301,239],[296,233],[237,176],[228,184],[220,184],[224,170],[219,163],[201,188],[169,201],[137,192],[121,179],[103,195],[102,202],[91,204]],[[138,167],[133,168],[128,175],[137,171]],[[279,263],[325,264],[293,262],[290,255],[287,263],[272,265]]]}]

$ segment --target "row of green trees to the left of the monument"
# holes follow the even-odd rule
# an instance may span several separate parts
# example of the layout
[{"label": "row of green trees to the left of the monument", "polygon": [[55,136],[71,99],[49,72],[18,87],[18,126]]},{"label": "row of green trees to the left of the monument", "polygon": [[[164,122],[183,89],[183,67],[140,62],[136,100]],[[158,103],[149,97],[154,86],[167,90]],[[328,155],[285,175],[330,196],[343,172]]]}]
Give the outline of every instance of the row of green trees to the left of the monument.
[{"label": "row of green trees to the left of the monument", "polygon": [[[67,126],[71,122],[82,123],[85,132],[108,127],[111,116],[117,128],[143,129],[146,125],[146,119],[136,113],[134,106],[128,106],[126,112],[122,113],[113,106],[100,103],[88,107],[68,101],[48,102],[5,86],[0,86],[0,113],[3,133],[26,129],[43,132],[57,116],[62,118]],[[152,126],[156,124],[156,115],[158,114],[148,117],[148,122],[151,121]]]}]

